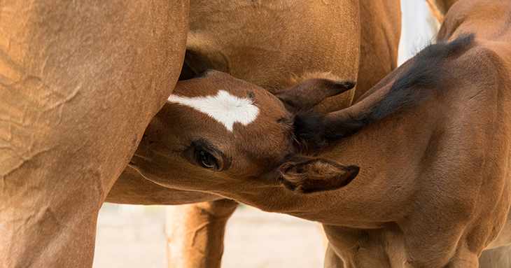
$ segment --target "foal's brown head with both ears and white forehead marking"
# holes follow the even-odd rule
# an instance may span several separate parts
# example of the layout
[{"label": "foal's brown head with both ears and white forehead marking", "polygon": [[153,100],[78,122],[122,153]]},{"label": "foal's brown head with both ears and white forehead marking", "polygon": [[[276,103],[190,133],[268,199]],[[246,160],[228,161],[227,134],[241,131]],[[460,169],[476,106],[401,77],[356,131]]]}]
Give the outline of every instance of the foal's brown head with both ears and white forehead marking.
[{"label": "foal's brown head with both ears and white forehead marking", "polygon": [[239,183],[284,185],[297,192],[340,188],[355,178],[358,167],[300,154],[293,118],[353,86],[353,81],[316,78],[274,96],[207,71],[176,85],[130,165],[160,185],[187,190]]}]

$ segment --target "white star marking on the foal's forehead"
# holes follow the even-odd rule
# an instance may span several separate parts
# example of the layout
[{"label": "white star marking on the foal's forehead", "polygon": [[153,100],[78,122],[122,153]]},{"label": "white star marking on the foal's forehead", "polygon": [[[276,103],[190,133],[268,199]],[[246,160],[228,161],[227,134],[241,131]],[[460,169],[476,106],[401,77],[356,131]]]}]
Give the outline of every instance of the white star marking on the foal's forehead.
[{"label": "white star marking on the foal's forehead", "polygon": [[248,125],[257,118],[259,108],[251,99],[241,99],[225,90],[219,90],[215,96],[181,97],[170,95],[168,101],[190,106],[197,111],[206,113],[221,122],[230,132],[235,122]]}]

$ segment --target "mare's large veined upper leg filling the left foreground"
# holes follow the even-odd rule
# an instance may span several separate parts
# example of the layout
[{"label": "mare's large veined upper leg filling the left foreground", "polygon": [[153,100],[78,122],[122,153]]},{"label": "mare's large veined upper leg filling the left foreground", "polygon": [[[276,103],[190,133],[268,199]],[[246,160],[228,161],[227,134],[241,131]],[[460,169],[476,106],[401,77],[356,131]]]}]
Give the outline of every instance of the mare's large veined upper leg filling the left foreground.
[{"label": "mare's large veined upper leg filling the left foreground", "polygon": [[0,267],[90,267],[99,208],[179,76],[188,1],[0,14]]}]

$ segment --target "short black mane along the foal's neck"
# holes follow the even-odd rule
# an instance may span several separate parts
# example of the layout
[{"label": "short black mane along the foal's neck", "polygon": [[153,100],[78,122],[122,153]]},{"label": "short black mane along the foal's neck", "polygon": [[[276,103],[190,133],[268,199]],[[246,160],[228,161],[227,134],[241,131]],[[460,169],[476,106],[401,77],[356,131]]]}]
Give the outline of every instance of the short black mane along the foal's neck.
[{"label": "short black mane along the foal's neck", "polygon": [[428,90],[441,89],[448,78],[446,59],[454,59],[474,45],[475,34],[465,34],[456,40],[438,41],[419,52],[412,66],[391,86],[391,89],[363,113],[340,114],[335,122],[325,122],[325,115],[302,111],[295,116],[295,136],[304,150],[318,150],[326,144],[350,136],[366,125],[413,106],[428,97]]}]

